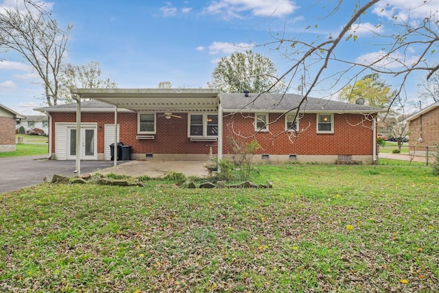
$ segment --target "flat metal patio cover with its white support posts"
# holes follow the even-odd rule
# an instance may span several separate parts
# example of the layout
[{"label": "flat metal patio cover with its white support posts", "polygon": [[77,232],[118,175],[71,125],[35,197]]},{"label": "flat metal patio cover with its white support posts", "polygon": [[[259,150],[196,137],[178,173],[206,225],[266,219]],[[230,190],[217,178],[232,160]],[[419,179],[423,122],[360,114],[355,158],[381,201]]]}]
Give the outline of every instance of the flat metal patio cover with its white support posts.
[{"label": "flat metal patio cover with its white support posts", "polygon": [[[81,99],[95,99],[115,106],[115,145],[117,109],[135,112],[215,112],[218,113],[218,159],[222,159],[222,103],[215,89],[71,89],[78,95],[76,128],[80,129]],[[80,132],[76,132],[76,170],[80,174]],[[115,148],[115,158],[117,158]],[[115,165],[117,165],[117,160]]]}]

